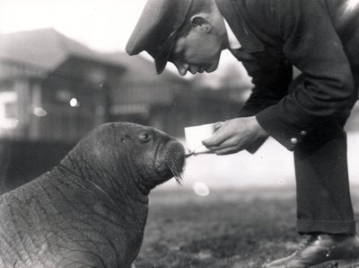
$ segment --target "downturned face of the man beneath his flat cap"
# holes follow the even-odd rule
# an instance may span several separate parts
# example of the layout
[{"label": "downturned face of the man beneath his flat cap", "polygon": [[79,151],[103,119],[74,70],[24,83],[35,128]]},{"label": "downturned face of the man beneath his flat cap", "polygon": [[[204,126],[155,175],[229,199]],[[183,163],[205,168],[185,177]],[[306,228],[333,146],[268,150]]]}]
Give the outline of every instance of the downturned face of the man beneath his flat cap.
[{"label": "downturned face of the man beneath his flat cap", "polygon": [[210,73],[218,67],[223,49],[220,36],[195,27],[186,36],[180,35],[175,40],[170,61],[181,76],[185,76],[188,71],[192,74]]}]

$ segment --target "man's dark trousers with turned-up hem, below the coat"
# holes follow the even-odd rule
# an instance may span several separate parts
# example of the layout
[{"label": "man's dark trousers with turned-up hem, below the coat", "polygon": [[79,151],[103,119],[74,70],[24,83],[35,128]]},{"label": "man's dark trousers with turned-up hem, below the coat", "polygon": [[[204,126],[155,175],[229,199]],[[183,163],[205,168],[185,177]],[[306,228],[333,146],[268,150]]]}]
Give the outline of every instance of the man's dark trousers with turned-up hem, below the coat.
[{"label": "man's dark trousers with turned-up hem, below the coat", "polygon": [[[354,71],[354,76],[358,88],[359,72]],[[355,103],[357,92],[353,99]],[[323,123],[294,150],[299,233],[355,233],[343,129],[346,118],[344,112]]]}]

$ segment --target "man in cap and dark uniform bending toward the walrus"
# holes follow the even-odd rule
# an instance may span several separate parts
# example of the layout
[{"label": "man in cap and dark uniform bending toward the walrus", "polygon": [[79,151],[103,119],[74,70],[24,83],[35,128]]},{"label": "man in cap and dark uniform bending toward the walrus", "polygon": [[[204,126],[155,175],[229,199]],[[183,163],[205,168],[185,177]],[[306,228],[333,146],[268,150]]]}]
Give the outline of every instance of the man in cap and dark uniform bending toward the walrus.
[{"label": "man in cap and dark uniform bending toward the walrus", "polygon": [[182,76],[214,71],[223,49],[254,88],[239,117],[203,143],[225,155],[270,135],[293,150],[297,229],[311,237],[266,267],[359,265],[343,129],[358,94],[359,0],[149,0],[127,43],[159,74],[171,61]]}]

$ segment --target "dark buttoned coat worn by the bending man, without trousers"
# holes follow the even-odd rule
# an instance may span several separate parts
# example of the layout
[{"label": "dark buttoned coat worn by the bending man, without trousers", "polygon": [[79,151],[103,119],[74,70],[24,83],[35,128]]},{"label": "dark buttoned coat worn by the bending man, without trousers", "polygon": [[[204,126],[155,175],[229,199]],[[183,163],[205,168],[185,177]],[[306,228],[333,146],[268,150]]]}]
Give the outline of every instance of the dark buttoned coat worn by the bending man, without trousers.
[{"label": "dark buttoned coat worn by the bending man, without trousers", "polygon": [[[257,115],[290,150],[325,121],[346,120],[357,96],[358,1],[216,2],[255,85],[241,116]],[[293,66],[302,71],[294,81]]]}]

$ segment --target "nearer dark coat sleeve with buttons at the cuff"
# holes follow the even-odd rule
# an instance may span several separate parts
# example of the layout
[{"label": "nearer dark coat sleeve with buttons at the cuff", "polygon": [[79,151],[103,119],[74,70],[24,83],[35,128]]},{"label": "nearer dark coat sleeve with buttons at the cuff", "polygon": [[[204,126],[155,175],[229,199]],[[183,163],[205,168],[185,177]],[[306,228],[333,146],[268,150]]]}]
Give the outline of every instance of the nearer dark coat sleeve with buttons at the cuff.
[{"label": "nearer dark coat sleeve with buttons at the cuff", "polygon": [[293,150],[320,123],[350,109],[354,82],[341,41],[319,1],[270,3],[276,3],[268,10],[283,39],[285,58],[302,76],[293,81],[289,94],[256,117],[270,136]]}]

